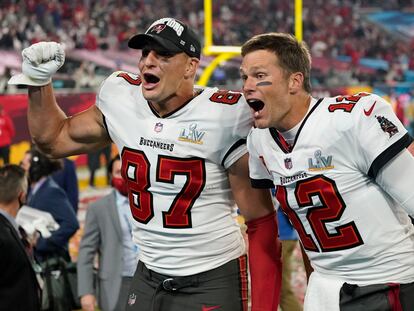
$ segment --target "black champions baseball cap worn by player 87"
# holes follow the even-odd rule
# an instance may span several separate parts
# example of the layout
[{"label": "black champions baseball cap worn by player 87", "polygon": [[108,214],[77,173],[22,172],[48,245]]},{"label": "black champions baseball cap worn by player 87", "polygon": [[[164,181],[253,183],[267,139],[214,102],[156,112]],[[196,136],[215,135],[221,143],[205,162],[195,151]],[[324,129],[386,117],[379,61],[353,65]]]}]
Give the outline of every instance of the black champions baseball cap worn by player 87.
[{"label": "black champions baseball cap worn by player 87", "polygon": [[175,18],[166,17],[153,22],[145,33],[131,37],[128,46],[140,50],[150,41],[174,53],[184,52],[198,59],[201,56],[201,44],[196,33]]}]

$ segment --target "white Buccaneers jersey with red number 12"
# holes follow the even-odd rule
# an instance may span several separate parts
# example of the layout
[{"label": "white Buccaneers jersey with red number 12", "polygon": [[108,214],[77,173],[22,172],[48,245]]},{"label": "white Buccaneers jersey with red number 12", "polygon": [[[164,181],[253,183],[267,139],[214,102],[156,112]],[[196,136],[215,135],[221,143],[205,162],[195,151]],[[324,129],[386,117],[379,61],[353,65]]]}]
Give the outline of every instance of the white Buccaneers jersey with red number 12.
[{"label": "white Buccaneers jersey with red number 12", "polygon": [[410,143],[379,96],[312,99],[292,146],[275,129],[252,129],[250,176],[276,186],[315,271],[359,285],[413,282],[413,226],[375,183]]}]

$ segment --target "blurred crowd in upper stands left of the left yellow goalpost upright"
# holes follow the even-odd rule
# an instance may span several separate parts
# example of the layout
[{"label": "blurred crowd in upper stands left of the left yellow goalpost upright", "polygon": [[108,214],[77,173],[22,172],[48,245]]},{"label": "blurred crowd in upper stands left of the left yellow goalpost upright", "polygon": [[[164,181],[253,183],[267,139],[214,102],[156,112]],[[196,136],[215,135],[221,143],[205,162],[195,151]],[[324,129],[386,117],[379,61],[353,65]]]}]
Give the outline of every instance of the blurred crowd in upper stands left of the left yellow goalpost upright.
[{"label": "blurred crowd in upper stands left of the left yellow goalpost upright", "polygon": [[125,49],[126,40],[158,16],[191,19],[198,26],[202,11],[202,1],[196,0],[5,0],[0,3],[0,48],[21,50],[55,40],[69,49]]}]

